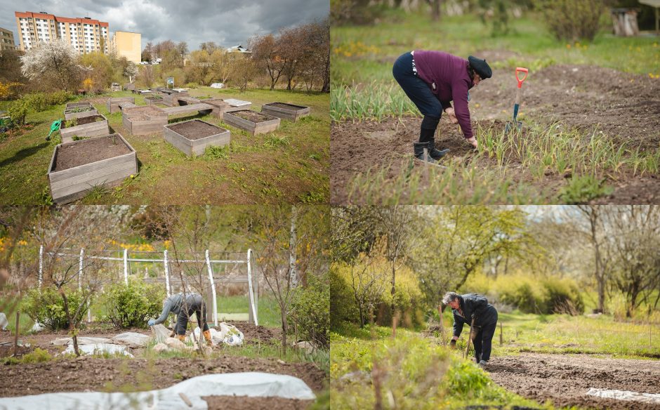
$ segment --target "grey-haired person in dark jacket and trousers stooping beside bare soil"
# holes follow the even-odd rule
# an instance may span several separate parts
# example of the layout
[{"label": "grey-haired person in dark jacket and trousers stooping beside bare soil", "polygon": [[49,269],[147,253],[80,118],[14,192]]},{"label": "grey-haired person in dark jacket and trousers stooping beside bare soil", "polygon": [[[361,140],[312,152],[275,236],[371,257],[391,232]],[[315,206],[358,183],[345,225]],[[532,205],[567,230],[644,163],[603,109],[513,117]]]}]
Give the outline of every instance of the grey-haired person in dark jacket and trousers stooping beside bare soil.
[{"label": "grey-haired person in dark jacket and trousers stooping beside bare soil", "polygon": [[447,292],[442,298],[442,303],[451,307],[454,313],[454,336],[451,338],[451,347],[456,347],[456,340],[461,336],[463,325],[472,324],[475,319],[475,329],[473,330],[475,358],[477,364],[483,368],[487,366],[490,360],[490,352],[493,341],[493,335],[497,327],[497,310],[488,303],[488,299],[477,293],[468,293],[459,295],[455,292]]}]

